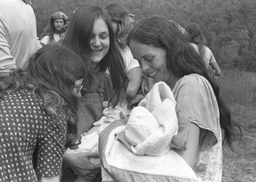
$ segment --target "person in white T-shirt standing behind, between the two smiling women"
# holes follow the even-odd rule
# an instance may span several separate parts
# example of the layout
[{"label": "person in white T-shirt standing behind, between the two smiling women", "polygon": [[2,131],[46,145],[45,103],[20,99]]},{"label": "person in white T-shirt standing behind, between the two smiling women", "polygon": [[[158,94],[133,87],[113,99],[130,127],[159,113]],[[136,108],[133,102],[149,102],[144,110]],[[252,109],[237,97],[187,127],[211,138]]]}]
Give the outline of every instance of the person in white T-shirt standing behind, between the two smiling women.
[{"label": "person in white T-shirt standing behind, between the two smiling women", "polygon": [[[126,73],[129,78],[129,84],[126,90],[127,100],[132,100],[140,88],[142,71],[139,62],[132,57],[131,51],[126,44],[126,37],[132,28],[130,16],[124,6],[118,3],[109,4],[106,7],[106,12],[111,18],[111,22],[115,31],[115,39],[119,50],[124,58]],[[127,101],[125,100],[122,106],[127,110]],[[127,112],[129,113],[129,112]]]}]

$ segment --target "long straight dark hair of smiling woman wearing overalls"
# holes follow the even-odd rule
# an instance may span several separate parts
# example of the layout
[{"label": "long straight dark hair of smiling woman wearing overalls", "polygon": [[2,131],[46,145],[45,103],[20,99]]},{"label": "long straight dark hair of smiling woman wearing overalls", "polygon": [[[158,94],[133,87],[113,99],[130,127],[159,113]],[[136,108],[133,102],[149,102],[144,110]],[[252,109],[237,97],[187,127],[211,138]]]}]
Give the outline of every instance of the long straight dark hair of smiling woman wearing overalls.
[{"label": "long straight dark hair of smiling woman wearing overalls", "polygon": [[[124,98],[128,78],[125,72],[124,60],[115,41],[114,30],[112,28],[110,17],[107,15],[105,10],[98,6],[86,5],[76,10],[70,20],[69,28],[66,31],[63,44],[83,58],[85,65],[90,69],[90,41],[93,36],[93,26],[95,20],[101,17],[104,19],[107,28],[109,29],[110,46],[109,51],[99,62],[99,72],[105,72],[109,69],[115,92],[110,101],[114,106],[116,106]],[[90,82],[95,82],[95,79],[93,79],[93,71],[90,70],[90,73],[91,74],[88,74],[86,79]]]}]

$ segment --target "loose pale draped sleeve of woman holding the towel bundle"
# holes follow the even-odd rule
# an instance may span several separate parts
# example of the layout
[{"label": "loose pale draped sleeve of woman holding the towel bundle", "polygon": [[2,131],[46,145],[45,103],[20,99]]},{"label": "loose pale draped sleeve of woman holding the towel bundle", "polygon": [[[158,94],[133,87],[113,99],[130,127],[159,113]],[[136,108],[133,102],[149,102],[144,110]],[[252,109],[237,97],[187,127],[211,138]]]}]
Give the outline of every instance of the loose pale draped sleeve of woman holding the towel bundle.
[{"label": "loose pale draped sleeve of woman holding the towel bundle", "polygon": [[211,84],[198,74],[190,74],[180,79],[173,88],[177,101],[178,134],[172,138],[172,147],[186,150],[187,135],[193,122],[200,128],[201,149],[214,146],[218,130],[218,104]]}]

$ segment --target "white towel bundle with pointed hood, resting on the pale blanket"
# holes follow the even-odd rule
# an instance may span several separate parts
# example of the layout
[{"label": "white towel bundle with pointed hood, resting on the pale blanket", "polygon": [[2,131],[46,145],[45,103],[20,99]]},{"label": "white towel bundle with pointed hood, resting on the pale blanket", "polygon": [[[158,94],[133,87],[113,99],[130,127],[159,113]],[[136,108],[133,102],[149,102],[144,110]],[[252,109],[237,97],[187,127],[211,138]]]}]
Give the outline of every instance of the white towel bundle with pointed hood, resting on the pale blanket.
[{"label": "white towel bundle with pointed hood, resting on the pale blanket", "polygon": [[153,85],[137,107],[132,109],[125,137],[135,154],[161,156],[170,151],[172,137],[177,135],[176,101],[165,82]]}]

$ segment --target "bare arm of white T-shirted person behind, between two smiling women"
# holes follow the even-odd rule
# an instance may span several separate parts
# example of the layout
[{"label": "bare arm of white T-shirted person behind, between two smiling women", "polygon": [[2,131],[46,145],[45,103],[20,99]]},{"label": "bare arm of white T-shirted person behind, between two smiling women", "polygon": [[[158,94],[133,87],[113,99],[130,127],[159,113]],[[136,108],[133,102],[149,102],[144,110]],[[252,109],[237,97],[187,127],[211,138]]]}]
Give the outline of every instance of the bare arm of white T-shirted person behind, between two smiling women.
[{"label": "bare arm of white T-shirted person behind, between two smiling women", "polygon": [[128,73],[129,84],[126,90],[126,97],[133,98],[136,96],[142,79],[142,71],[140,67],[132,68]]}]

